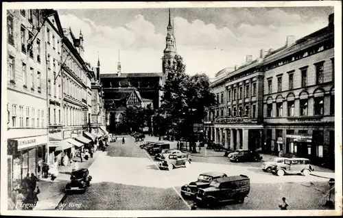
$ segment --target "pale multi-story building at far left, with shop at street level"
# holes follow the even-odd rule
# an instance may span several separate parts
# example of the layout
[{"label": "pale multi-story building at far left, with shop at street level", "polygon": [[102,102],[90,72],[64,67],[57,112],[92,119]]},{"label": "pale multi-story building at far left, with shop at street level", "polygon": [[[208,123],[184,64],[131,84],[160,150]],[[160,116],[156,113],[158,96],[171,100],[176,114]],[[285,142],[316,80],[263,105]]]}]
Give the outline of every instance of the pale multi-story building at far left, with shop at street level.
[{"label": "pale multi-story building at far left, with shop at street level", "polygon": [[7,11],[8,189],[38,174],[47,159],[45,36],[39,28],[51,10]]}]

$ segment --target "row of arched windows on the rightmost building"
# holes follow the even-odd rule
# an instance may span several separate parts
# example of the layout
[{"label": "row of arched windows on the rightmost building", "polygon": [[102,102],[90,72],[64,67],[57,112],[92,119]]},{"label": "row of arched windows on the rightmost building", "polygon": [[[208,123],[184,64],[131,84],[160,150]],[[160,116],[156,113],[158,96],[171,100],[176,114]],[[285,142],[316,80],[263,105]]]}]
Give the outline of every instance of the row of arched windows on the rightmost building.
[{"label": "row of arched windows on the rightmost building", "polygon": [[[299,100],[299,115],[306,116],[309,112],[308,99]],[[330,114],[335,113],[335,96],[330,96]],[[273,115],[273,104],[267,104],[267,117]],[[276,117],[283,117],[283,103],[276,103]],[[314,98],[314,115],[324,115],[324,97]],[[294,116],[294,100],[287,101],[287,116]]]}]

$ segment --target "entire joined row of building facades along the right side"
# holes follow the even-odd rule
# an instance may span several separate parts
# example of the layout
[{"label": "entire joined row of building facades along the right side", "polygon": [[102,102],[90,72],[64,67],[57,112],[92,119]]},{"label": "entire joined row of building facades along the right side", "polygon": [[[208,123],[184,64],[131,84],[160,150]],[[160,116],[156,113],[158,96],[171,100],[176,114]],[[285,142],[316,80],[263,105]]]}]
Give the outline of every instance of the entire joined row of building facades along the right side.
[{"label": "entire joined row of building facades along the right side", "polygon": [[287,36],[280,49],[261,50],[255,61],[247,56],[248,64],[218,72],[211,83],[218,104],[205,121],[209,139],[333,165],[333,33],[331,14],[327,27],[299,40]]}]

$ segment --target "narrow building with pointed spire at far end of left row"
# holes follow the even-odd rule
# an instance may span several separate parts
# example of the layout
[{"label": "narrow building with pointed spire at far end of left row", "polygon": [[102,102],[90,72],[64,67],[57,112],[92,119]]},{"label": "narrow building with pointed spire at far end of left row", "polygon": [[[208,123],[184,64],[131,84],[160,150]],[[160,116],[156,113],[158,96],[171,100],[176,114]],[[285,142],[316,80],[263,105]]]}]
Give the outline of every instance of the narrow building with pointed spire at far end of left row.
[{"label": "narrow building with pointed spire at far end of left row", "polygon": [[92,79],[92,113],[91,113],[91,130],[95,135],[108,135],[106,131],[105,108],[104,108],[104,91],[100,82],[100,60],[97,60],[96,74]]}]

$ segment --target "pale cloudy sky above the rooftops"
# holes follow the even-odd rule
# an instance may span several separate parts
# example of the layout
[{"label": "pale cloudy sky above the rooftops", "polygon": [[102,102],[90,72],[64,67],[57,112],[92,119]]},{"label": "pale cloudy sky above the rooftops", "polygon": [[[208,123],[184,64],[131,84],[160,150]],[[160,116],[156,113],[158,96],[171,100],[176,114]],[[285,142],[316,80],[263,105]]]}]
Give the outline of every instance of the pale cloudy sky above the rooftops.
[{"label": "pale cloudy sky above the rooftops", "polygon": [[[171,8],[176,48],[187,74],[210,78],[241,66],[246,55],[278,49],[286,36],[301,38],[327,26],[332,7]],[[58,10],[62,27],[84,35],[84,59],[101,72],[162,72],[168,9]]]}]

